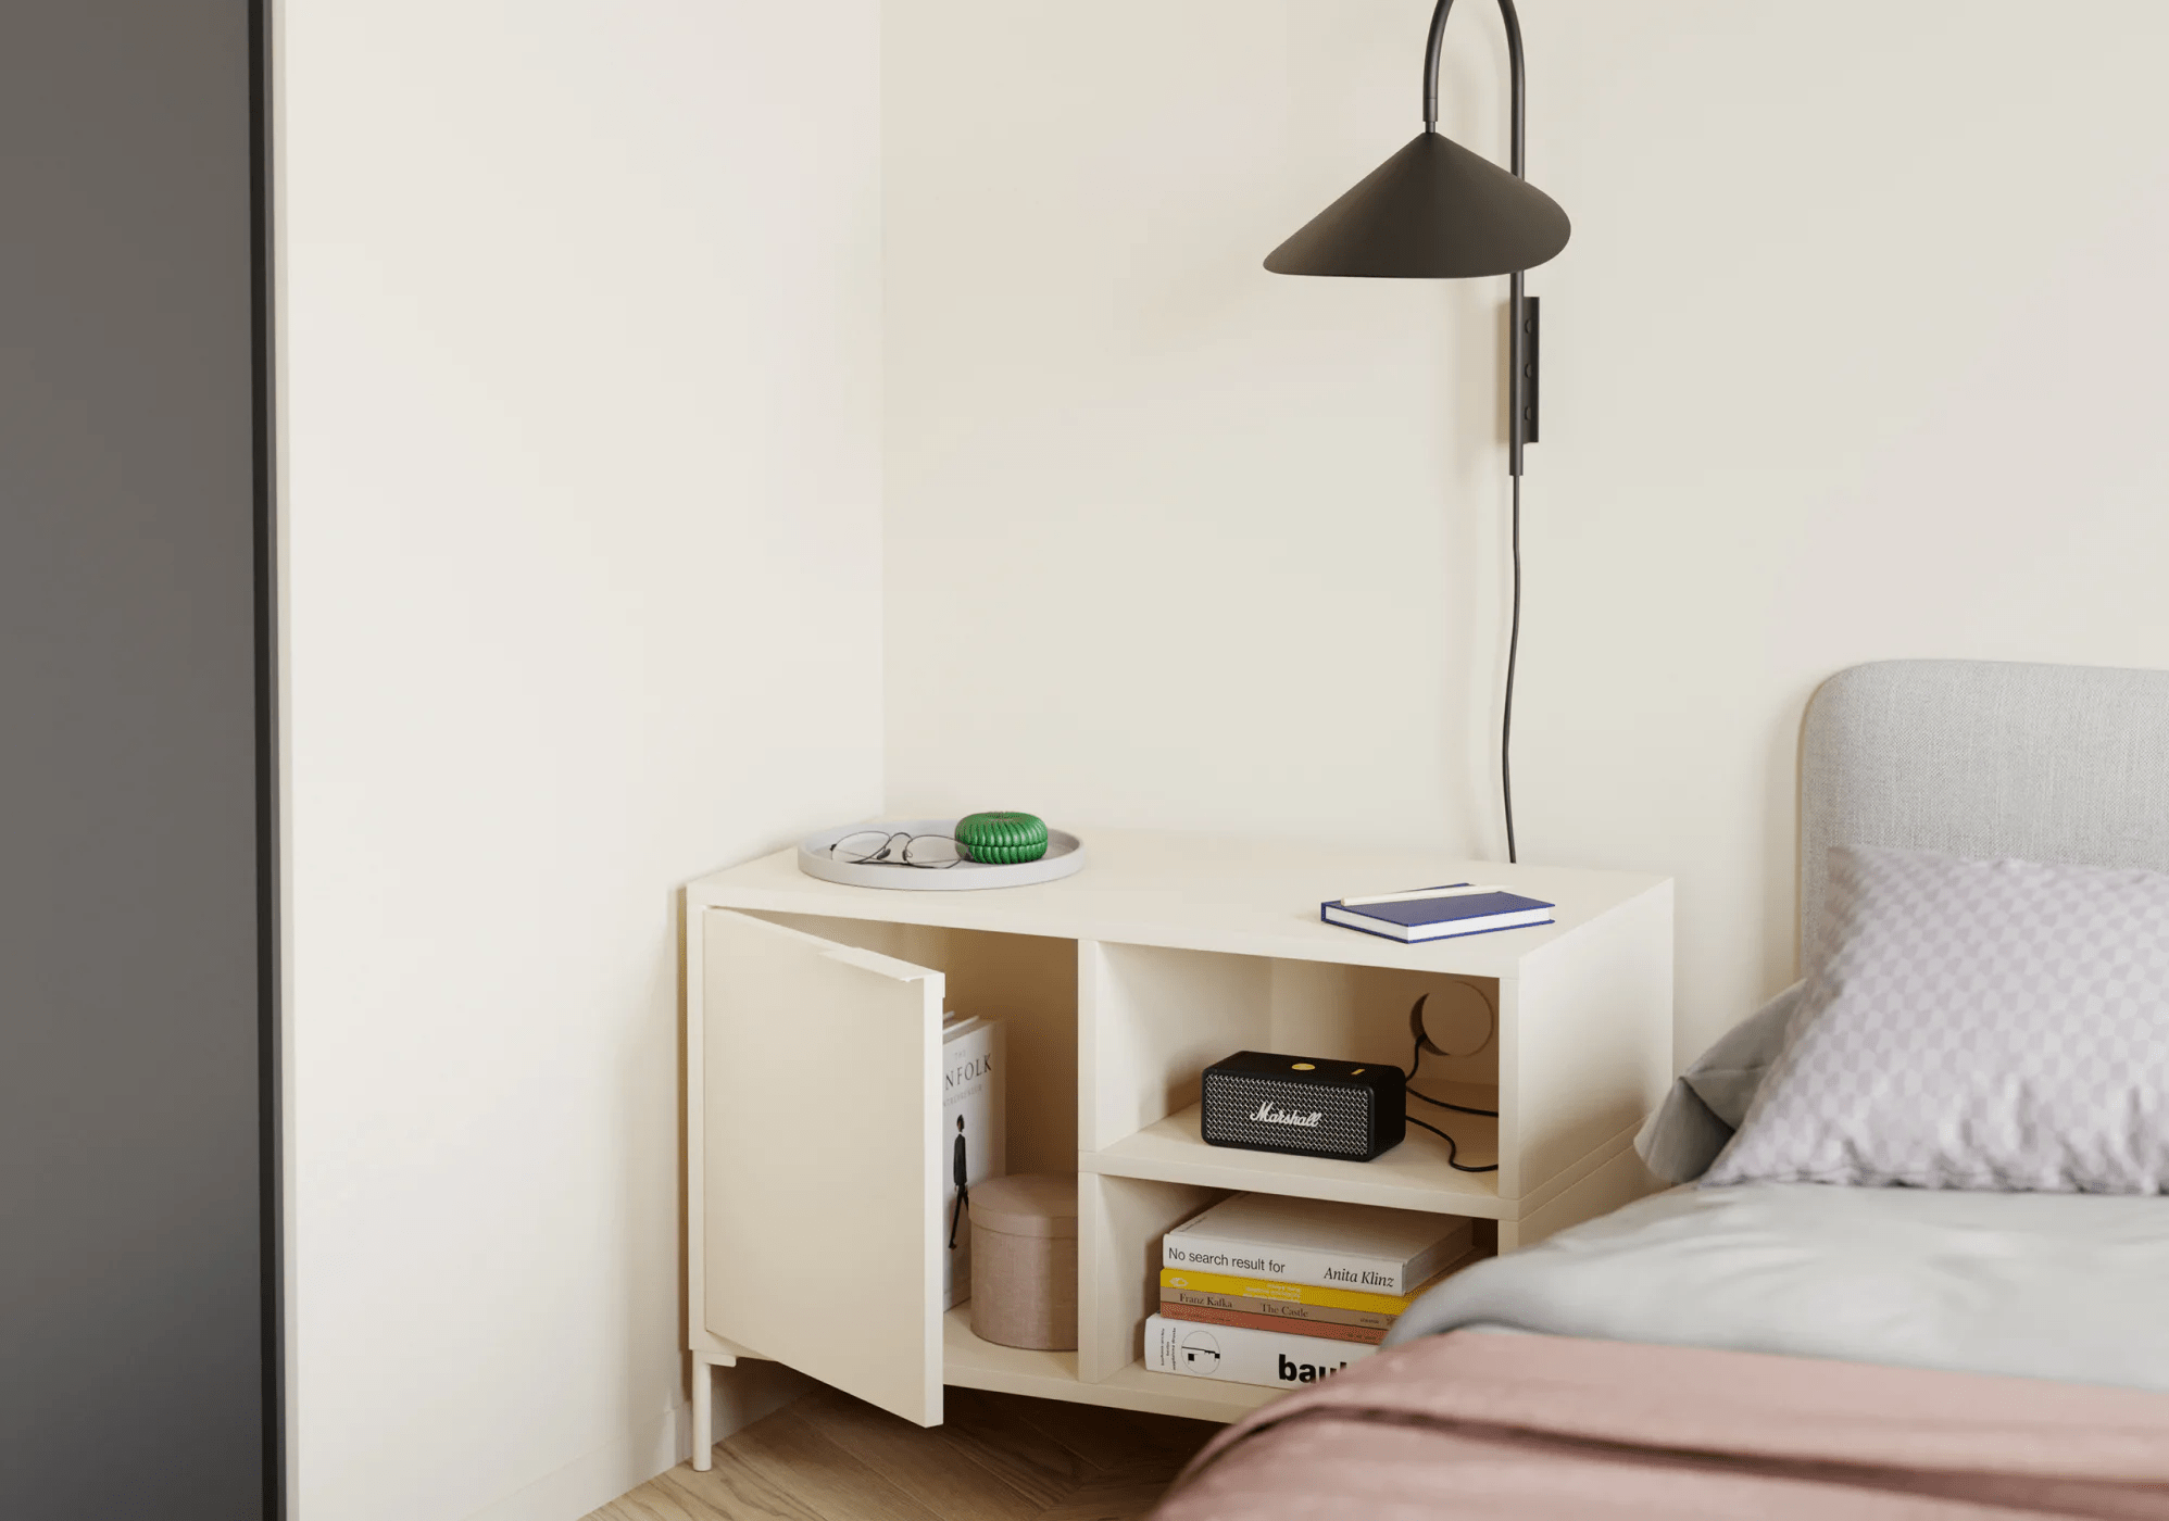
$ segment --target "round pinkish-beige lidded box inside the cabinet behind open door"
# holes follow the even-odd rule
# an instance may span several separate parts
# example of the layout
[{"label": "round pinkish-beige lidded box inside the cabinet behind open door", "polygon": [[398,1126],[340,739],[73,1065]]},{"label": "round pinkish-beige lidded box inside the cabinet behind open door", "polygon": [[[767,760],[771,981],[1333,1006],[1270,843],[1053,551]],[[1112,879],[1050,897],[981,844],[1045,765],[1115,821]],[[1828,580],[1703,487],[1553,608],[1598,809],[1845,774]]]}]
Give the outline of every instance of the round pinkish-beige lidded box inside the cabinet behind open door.
[{"label": "round pinkish-beige lidded box inside the cabinet behind open door", "polygon": [[972,1334],[1004,1347],[1078,1345],[1078,1180],[987,1178],[972,1189]]}]

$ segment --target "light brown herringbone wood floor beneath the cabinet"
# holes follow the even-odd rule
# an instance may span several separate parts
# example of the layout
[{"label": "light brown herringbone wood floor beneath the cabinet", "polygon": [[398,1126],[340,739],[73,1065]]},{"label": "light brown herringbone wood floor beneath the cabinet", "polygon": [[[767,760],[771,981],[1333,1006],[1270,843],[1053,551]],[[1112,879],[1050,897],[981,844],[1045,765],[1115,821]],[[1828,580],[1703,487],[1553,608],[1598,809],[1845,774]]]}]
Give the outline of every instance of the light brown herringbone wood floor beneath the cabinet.
[{"label": "light brown herringbone wood floor beneath the cabinet", "polygon": [[1128,1521],[1219,1430],[976,1389],[944,1406],[924,1430],[822,1389],[588,1521]]}]

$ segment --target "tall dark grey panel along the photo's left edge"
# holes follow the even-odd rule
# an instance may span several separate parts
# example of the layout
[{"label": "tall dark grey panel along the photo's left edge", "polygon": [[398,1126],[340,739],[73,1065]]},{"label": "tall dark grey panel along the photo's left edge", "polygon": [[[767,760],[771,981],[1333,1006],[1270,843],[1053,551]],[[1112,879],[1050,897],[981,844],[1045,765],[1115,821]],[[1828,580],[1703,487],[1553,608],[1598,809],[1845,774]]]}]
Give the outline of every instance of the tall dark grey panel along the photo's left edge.
[{"label": "tall dark grey panel along the photo's left edge", "polygon": [[252,7],[0,7],[0,1514],[267,1514]]}]

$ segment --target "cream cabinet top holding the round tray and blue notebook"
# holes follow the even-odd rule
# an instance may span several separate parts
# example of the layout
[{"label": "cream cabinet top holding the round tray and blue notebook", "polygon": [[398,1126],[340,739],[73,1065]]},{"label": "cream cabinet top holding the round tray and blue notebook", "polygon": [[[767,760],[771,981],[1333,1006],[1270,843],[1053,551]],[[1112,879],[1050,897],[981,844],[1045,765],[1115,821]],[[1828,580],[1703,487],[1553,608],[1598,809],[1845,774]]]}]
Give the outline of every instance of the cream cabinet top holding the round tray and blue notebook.
[{"label": "cream cabinet top holding the round tray and blue notebook", "polygon": [[[1032,887],[846,887],[800,872],[798,851],[792,846],[703,877],[685,892],[694,907],[1514,976],[1523,957],[1644,894],[1670,887],[1668,877],[1458,861],[1440,851],[1134,829],[1093,829],[1078,838],[1084,842],[1084,870]],[[1555,903],[1557,922],[1408,946],[1319,920],[1319,905],[1332,898],[1460,881],[1494,883]]]}]

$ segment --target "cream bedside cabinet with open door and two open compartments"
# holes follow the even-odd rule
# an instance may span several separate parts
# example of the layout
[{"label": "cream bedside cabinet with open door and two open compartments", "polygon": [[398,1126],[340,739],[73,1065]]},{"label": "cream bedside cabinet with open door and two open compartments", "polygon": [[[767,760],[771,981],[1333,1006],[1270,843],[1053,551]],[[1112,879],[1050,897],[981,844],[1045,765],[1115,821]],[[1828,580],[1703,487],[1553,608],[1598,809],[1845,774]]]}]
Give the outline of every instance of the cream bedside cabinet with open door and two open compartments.
[{"label": "cream bedside cabinet with open door and two open compartments", "polygon": [[[1468,1215],[1505,1252],[1655,1187],[1631,1139],[1672,1074],[1670,879],[1132,831],[1084,851],[1076,877],[993,892],[846,887],[794,851],[685,890],[703,1436],[709,1367],[742,1356],[922,1426],[944,1384],[1232,1421],[1275,1391],[1139,1363],[1160,1235],[1206,1204],[1249,1189]],[[1546,898],[1557,924],[1406,946],[1319,922],[1327,898],[1458,881]],[[1371,1163],[1199,1139],[1208,1063],[1406,1068],[1423,994],[1466,1046],[1497,1011],[1484,1050],[1427,1055],[1416,1087],[1499,1120],[1410,1102],[1497,1172],[1453,1172],[1414,1126]],[[1078,1174],[1076,1352],[996,1347],[970,1306],[941,1311],[944,1007],[1009,1026],[1009,1172]]]}]

